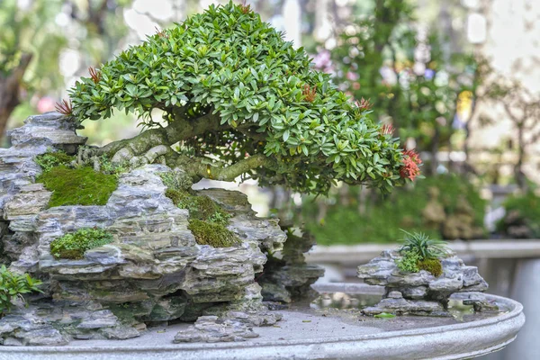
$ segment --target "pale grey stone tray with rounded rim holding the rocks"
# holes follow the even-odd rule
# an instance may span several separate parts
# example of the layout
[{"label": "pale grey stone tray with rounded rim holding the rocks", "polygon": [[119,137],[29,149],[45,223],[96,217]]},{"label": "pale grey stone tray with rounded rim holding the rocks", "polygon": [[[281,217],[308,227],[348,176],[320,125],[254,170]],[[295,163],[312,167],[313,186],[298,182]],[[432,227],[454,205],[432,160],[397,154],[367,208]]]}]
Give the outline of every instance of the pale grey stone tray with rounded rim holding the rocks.
[{"label": "pale grey stone tray with rounded rim holding the rocks", "polygon": [[76,341],[67,347],[0,347],[0,360],[464,359],[507,346],[525,322],[519,302],[495,295],[486,298],[510,311],[443,326],[434,326],[437,320],[433,319],[402,318],[399,321],[403,321],[405,330],[395,330],[392,320],[361,322],[309,310],[281,311],[284,320],[279,327],[255,328],[260,338],[246,342],[175,345],[172,340],[176,332],[187,326],[178,324],[165,332],[149,329],[140,338],[121,341]]}]

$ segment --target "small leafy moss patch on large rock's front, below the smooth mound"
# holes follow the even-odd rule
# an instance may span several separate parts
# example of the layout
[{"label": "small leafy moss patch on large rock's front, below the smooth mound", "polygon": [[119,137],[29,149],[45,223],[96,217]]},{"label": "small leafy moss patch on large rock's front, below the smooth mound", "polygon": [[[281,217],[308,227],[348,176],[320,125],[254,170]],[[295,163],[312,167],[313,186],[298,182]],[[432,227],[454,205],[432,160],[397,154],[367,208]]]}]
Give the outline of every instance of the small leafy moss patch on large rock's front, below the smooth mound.
[{"label": "small leafy moss patch on large rock's front, below the smooth mound", "polygon": [[50,243],[50,254],[56,258],[81,259],[85,251],[112,242],[112,234],[104,229],[78,229]]}]

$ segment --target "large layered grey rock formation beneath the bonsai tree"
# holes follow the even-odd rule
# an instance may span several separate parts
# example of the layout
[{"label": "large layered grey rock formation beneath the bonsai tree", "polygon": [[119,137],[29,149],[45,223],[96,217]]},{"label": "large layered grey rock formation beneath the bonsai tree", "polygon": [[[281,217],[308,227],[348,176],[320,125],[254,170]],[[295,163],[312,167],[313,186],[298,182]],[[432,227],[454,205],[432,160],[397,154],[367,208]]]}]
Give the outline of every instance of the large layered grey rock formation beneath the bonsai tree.
[{"label": "large layered grey rock formation beneath the bonsai tree", "polygon": [[[16,321],[0,320],[4,342],[48,345],[40,340],[47,335],[57,345],[70,338],[131,338],[144,329],[143,322],[193,321],[205,313],[219,314],[224,324],[237,321],[245,326],[279,320],[262,305],[254,279],[263,271],[265,252],[280,250],[286,235],[277,220],[257,218],[246,195],[221,189],[198,192],[231,214],[228,229],[240,240],[233,247],[197,244],[188,229],[189,211],[165,195],[160,175],[171,169],[163,165],[121,174],[118,188],[103,206],[48,208],[51,193],[35,184],[41,169],[34,157],[55,149],[75,153],[85,138],[76,136],[73,124],[56,113],[29,118],[11,136],[14,146],[0,149],[4,257],[12,271],[43,280],[45,293],[57,305],[43,308],[43,300],[36,300],[21,312],[47,325],[30,329],[40,330],[34,337],[38,340],[15,328]],[[112,243],[88,250],[78,260],[50,254],[54,239],[85,228],[107,229]],[[87,303],[96,309],[80,310]],[[53,334],[51,309],[67,311],[67,304],[71,311],[62,316],[68,320],[51,328],[60,331]],[[77,317],[73,309],[82,315]]]}]

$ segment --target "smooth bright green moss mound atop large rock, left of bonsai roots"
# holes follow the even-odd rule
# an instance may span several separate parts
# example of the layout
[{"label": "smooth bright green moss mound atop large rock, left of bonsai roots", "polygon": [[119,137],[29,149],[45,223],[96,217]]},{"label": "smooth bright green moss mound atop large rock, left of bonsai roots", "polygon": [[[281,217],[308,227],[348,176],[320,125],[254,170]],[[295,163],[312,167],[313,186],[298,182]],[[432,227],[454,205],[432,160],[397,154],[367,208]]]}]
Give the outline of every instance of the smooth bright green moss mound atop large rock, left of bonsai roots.
[{"label": "smooth bright green moss mound atop large rock, left of bonsai roots", "polygon": [[43,183],[52,192],[49,207],[104,205],[118,186],[115,175],[96,173],[87,166],[56,166],[40,175],[36,182]]}]

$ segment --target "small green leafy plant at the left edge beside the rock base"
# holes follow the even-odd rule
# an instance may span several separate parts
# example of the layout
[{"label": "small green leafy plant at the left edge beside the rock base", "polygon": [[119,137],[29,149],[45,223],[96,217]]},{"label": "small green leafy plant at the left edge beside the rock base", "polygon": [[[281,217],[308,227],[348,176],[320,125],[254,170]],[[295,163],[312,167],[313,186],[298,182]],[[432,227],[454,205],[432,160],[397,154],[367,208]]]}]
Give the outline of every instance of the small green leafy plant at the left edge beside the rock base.
[{"label": "small green leafy plant at the left edge beside the rock base", "polygon": [[40,280],[30,275],[18,275],[0,266],[0,314],[11,311],[14,298],[23,299],[24,293],[40,292]]}]

